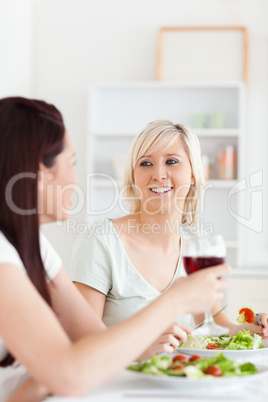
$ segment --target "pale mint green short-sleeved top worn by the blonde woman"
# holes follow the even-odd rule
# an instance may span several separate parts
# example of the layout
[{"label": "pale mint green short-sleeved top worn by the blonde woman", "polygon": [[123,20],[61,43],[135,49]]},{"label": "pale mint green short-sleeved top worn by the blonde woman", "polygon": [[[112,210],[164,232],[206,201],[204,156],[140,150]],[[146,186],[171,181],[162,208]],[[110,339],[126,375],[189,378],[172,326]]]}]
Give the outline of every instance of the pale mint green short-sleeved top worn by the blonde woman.
[{"label": "pale mint green short-sleeved top worn by the blonde woman", "polygon": [[[73,281],[106,295],[103,321],[107,326],[130,317],[161,294],[131,263],[109,219],[93,224],[76,241],[70,267]],[[181,257],[169,286],[180,276],[186,276]],[[191,315],[177,321],[189,325]]]}]

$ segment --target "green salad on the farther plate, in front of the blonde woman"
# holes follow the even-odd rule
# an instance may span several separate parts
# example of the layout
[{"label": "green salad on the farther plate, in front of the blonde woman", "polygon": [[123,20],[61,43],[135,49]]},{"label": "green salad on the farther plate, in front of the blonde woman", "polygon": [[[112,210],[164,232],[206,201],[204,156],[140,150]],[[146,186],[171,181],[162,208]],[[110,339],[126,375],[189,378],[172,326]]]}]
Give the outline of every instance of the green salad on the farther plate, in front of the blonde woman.
[{"label": "green salad on the farther plate, in front of the blonde woman", "polygon": [[229,337],[221,335],[217,338],[210,336],[188,335],[187,341],[181,343],[180,348],[188,349],[224,349],[224,350],[249,350],[263,348],[262,337],[250,331],[239,331],[236,335]]}]

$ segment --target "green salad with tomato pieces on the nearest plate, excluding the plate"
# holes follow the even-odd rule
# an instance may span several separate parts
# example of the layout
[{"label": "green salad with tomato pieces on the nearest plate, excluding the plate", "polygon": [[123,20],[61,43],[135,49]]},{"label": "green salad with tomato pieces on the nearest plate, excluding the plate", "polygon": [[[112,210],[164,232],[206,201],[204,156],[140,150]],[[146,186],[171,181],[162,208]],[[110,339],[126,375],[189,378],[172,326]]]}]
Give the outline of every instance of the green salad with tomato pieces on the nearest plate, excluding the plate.
[{"label": "green salad with tomato pieces on the nearest plate, excluding the plate", "polygon": [[222,353],[212,358],[193,355],[189,359],[185,355],[153,356],[146,362],[139,362],[128,367],[128,370],[139,371],[158,376],[180,376],[191,378],[234,377],[258,373],[252,363],[239,364],[229,360]]}]

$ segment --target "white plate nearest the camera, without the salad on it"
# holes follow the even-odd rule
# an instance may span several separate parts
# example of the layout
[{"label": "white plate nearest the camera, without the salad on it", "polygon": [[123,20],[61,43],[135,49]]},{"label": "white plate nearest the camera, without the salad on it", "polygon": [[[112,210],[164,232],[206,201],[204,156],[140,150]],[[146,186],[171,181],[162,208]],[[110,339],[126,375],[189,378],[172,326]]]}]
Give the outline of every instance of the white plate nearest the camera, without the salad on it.
[{"label": "white plate nearest the camera, without the salad on it", "polygon": [[139,371],[128,370],[129,372],[137,375],[140,379],[152,380],[159,385],[165,385],[169,387],[184,388],[188,387],[189,391],[198,388],[209,387],[221,387],[221,386],[238,386],[247,383],[248,381],[261,380],[265,376],[268,376],[268,367],[260,366],[256,364],[259,372],[257,374],[245,375],[241,377],[203,377],[203,378],[190,378],[190,377],[175,377],[167,375],[155,375],[145,374]]}]

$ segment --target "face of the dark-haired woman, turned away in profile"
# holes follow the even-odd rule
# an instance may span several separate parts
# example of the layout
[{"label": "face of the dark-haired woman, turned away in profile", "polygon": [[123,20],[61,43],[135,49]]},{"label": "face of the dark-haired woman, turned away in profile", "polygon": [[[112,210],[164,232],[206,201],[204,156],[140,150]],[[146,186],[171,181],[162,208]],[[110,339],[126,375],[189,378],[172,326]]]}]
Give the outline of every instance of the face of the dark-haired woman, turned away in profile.
[{"label": "face of the dark-haired woman, turned away in profile", "polygon": [[64,221],[69,216],[71,197],[77,184],[74,171],[75,152],[68,133],[64,149],[48,168],[40,165],[39,214],[40,223]]}]

